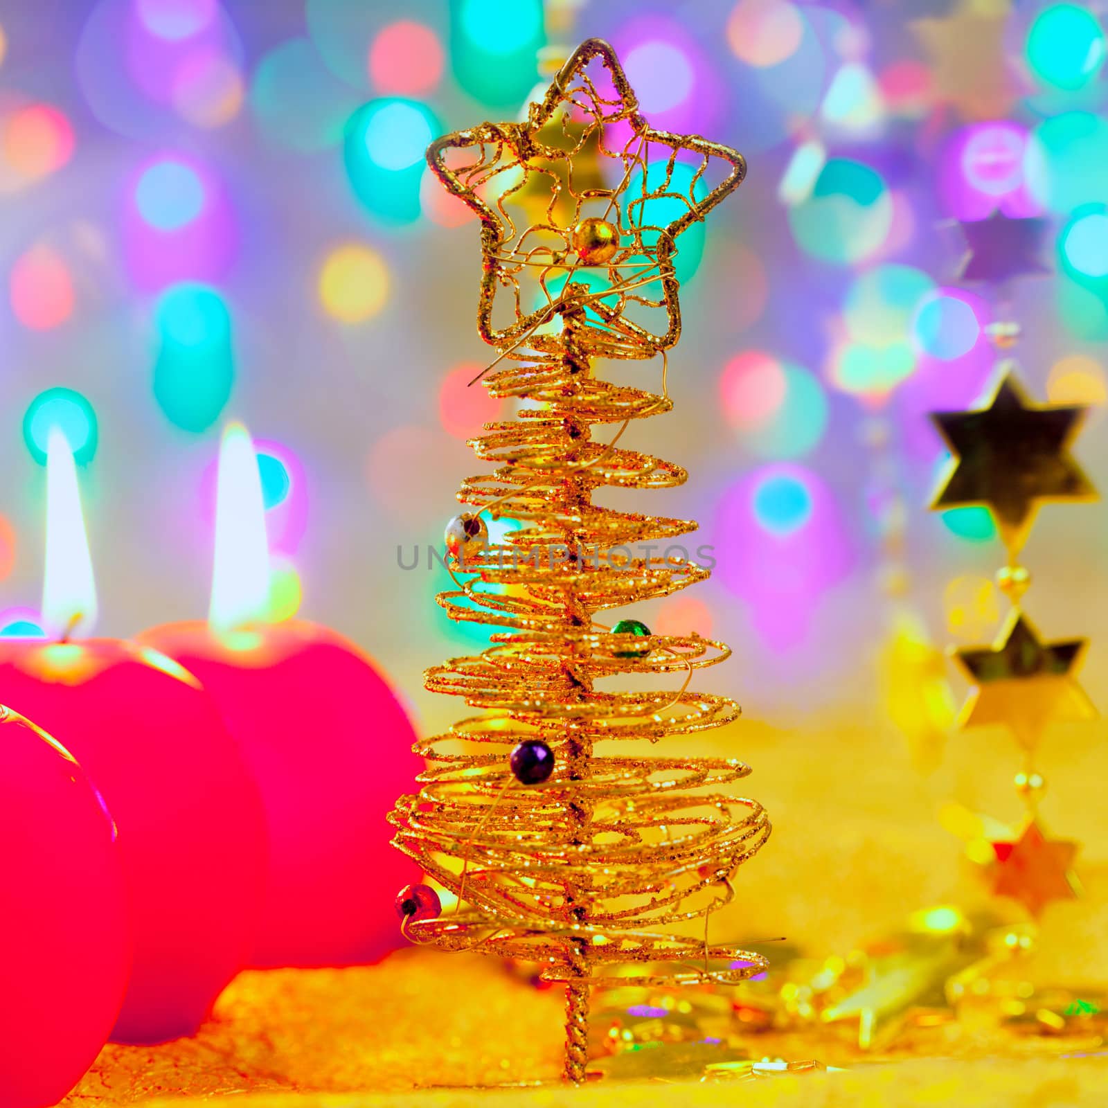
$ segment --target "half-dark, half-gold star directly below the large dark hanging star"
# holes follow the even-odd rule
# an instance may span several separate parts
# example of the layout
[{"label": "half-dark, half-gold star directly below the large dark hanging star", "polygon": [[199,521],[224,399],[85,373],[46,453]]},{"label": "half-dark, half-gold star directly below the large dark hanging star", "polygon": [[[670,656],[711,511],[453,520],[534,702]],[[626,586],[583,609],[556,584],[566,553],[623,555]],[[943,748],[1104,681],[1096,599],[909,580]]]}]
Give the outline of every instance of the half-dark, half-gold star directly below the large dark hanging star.
[{"label": "half-dark, half-gold star directly below the large dark hanging star", "polygon": [[1044,643],[1013,608],[992,647],[954,654],[974,685],[958,726],[1002,724],[1030,749],[1051,720],[1095,719],[1097,710],[1076,680],[1086,645],[1084,638]]}]

